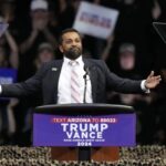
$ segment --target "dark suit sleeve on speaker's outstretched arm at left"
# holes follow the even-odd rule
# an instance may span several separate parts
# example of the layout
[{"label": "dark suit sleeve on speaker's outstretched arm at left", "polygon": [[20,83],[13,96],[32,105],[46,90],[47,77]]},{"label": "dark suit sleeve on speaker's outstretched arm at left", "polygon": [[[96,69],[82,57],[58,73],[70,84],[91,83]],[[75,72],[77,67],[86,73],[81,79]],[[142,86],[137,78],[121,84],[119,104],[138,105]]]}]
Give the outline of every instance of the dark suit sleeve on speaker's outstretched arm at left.
[{"label": "dark suit sleeve on speaker's outstretched arm at left", "polygon": [[42,65],[41,69],[35,73],[35,75],[24,82],[14,84],[2,84],[2,93],[0,95],[20,97],[39,92],[41,90],[42,77],[45,71],[45,65]]}]

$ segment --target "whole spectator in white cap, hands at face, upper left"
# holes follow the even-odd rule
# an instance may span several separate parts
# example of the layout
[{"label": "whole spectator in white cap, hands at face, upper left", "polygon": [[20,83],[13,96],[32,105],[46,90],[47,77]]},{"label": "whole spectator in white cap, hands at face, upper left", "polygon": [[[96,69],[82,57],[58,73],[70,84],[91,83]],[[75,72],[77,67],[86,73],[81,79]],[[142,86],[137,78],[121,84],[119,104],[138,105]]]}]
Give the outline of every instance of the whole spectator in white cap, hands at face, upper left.
[{"label": "whole spectator in white cap, hands at face, upper left", "polygon": [[[30,4],[30,24],[20,32],[20,80],[33,74],[33,61],[37,48],[42,42],[56,46],[54,27],[50,24],[50,10],[46,0],[32,0]],[[29,64],[28,66],[25,64]],[[22,72],[23,71],[23,72]]]}]

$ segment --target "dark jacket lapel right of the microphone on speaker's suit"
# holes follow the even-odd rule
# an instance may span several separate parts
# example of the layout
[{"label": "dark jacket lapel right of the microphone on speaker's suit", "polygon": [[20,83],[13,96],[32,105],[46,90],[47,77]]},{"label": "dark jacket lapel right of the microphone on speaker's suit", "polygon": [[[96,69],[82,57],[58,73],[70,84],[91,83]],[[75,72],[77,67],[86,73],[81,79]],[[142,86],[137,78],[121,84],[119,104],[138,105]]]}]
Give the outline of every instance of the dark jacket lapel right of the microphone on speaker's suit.
[{"label": "dark jacket lapel right of the microphone on speaker's suit", "polygon": [[90,80],[91,80],[91,85],[92,85],[92,98],[93,102],[96,102],[96,92],[97,92],[97,74],[95,70],[95,65],[93,64],[92,61],[89,59],[83,59],[85,66],[89,68],[90,70]]}]

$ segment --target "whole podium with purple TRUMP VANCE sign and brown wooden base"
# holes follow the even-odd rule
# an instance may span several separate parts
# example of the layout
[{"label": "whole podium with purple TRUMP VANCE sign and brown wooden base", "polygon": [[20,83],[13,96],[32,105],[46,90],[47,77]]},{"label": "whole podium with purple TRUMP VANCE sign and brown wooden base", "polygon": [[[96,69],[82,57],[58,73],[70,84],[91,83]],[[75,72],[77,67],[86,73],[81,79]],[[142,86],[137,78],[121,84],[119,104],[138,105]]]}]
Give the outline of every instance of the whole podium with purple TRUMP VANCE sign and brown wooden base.
[{"label": "whole podium with purple TRUMP VANCE sign and brown wooden base", "polygon": [[33,114],[33,146],[51,146],[56,160],[117,160],[135,146],[133,107],[111,104],[43,105]]}]

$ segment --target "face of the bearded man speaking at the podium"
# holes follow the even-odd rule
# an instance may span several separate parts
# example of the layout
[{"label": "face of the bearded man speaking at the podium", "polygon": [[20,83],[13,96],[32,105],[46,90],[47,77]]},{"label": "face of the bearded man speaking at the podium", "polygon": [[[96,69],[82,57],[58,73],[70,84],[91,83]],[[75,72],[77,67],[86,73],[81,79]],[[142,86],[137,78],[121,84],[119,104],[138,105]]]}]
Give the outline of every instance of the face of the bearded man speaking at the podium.
[{"label": "face of the bearded man speaking at the podium", "polygon": [[69,59],[75,60],[82,54],[82,41],[76,32],[68,32],[62,35],[60,51]]}]

